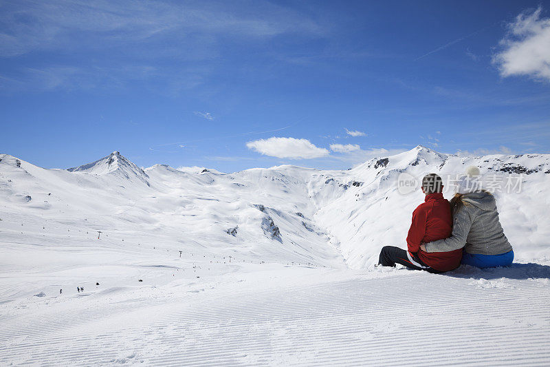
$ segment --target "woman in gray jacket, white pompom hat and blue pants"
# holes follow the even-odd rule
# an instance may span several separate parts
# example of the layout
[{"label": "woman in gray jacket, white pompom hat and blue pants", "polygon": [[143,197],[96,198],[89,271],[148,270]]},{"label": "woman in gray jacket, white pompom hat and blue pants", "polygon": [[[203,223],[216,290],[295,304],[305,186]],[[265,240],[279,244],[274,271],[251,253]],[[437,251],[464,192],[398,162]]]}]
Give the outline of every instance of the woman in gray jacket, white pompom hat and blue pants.
[{"label": "woman in gray jacket, white pompom hat and blue pants", "polygon": [[464,248],[461,264],[491,268],[509,266],[514,251],[498,219],[496,200],[481,189],[479,169],[468,167],[450,200],[452,234],[443,240],[421,244],[426,252],[446,252]]}]

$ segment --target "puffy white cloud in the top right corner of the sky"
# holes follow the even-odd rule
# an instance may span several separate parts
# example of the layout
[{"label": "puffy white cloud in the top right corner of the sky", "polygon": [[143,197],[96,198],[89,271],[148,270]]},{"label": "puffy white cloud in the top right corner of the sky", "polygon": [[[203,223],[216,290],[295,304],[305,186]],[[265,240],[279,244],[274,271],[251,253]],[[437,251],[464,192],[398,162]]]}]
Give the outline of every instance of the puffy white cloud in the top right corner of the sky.
[{"label": "puffy white cloud in the top right corner of the sky", "polygon": [[527,75],[550,81],[550,18],[540,18],[542,8],[522,12],[508,25],[500,41],[504,49],[494,55],[500,75]]}]

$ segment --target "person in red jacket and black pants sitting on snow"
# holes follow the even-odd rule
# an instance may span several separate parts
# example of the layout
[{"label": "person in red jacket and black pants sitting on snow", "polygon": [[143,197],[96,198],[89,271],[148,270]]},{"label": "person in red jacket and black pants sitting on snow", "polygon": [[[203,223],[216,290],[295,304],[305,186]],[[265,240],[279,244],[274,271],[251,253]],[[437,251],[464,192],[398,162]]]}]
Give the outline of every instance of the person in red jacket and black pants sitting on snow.
[{"label": "person in red jacket and black pants sitting on snow", "polygon": [[407,250],[385,246],[380,251],[378,264],[382,266],[404,265],[410,269],[443,273],[460,265],[462,249],[448,252],[426,252],[420,244],[448,238],[452,233],[451,207],[443,198],[443,181],[437,174],[427,174],[422,179],[424,202],[412,212],[412,223],[407,235]]}]

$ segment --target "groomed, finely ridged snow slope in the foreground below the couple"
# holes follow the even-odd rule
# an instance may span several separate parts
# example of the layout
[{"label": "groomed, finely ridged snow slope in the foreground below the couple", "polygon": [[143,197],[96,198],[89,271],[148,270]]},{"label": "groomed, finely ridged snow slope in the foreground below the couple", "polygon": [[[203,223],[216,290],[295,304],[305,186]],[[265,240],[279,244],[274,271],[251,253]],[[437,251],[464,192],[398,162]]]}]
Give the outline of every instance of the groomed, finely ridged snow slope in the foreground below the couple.
[{"label": "groomed, finely ridged snow slope in the foreground below the couple", "polygon": [[[0,364],[550,363],[550,291],[401,271],[383,279],[69,299],[0,314]],[[88,298],[88,297],[85,297]],[[18,314],[21,313],[21,314]],[[14,314],[14,315],[13,315]]]}]

